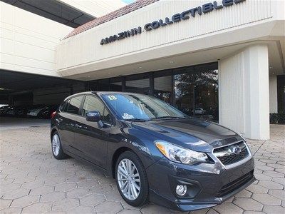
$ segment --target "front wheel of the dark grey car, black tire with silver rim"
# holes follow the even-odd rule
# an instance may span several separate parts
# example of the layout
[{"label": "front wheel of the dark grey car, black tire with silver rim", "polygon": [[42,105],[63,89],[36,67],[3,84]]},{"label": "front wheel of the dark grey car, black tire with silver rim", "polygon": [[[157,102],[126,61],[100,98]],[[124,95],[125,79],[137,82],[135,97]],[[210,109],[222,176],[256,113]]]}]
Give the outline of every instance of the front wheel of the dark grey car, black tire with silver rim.
[{"label": "front wheel of the dark grey car, black tire with silver rim", "polygon": [[115,178],[119,193],[125,202],[133,206],[147,203],[147,174],[135,153],[126,151],[120,155],[115,166]]}]

